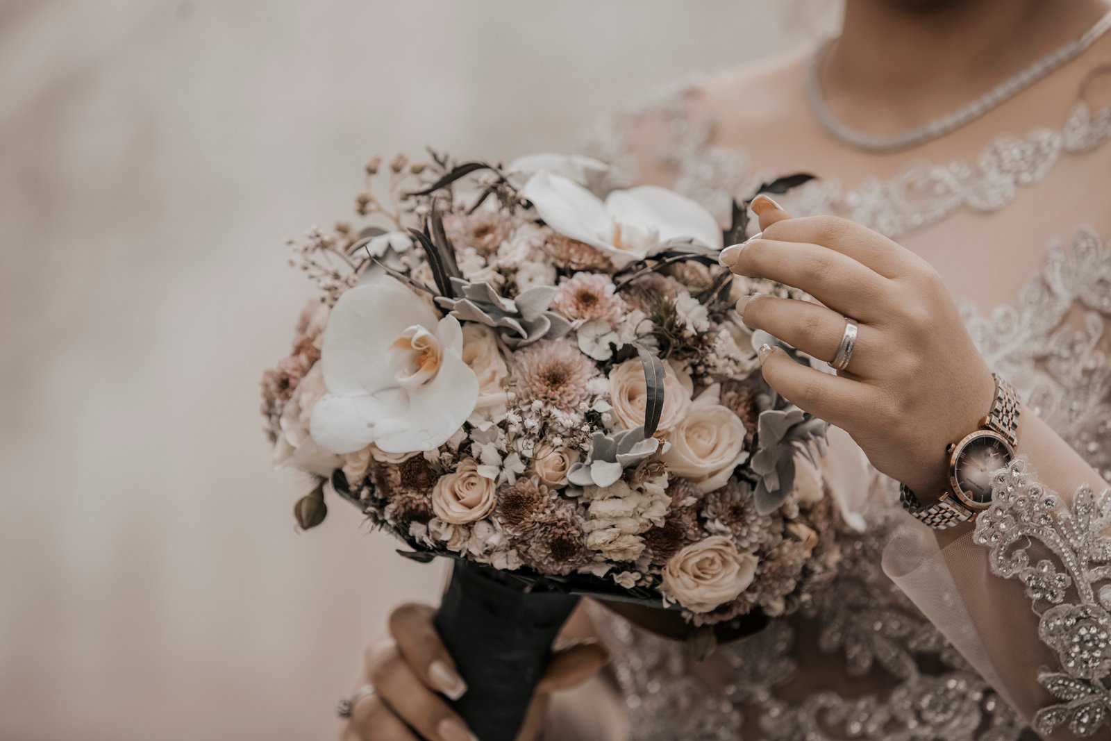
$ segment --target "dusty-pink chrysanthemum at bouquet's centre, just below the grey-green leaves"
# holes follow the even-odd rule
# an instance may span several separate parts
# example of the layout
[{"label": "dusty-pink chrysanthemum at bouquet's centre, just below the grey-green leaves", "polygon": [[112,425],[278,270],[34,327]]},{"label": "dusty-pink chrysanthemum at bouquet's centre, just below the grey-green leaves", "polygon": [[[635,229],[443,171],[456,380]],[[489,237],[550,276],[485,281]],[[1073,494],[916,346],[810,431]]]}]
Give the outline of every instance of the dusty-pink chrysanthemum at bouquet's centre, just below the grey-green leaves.
[{"label": "dusty-pink chrysanthemum at bouquet's centre, just below the grey-green leaves", "polygon": [[537,342],[513,356],[513,378],[523,401],[542,401],[571,411],[587,398],[587,382],[598,370],[570,342]]}]

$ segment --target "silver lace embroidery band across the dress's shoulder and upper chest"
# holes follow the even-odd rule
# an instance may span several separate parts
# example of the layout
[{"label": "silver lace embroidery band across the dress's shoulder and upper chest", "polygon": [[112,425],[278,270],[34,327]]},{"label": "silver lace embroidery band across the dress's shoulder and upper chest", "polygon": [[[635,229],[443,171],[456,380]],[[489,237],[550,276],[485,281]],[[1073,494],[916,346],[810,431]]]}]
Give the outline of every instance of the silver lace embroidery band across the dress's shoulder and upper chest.
[{"label": "silver lace embroidery band across the dress's shoulder and upper chest", "polygon": [[[677,173],[677,190],[724,219],[733,196],[750,192],[767,178],[750,170],[743,152],[713,143],[712,121],[690,116],[690,98],[702,79],[669,88],[647,104],[617,114],[593,132],[588,149],[634,177],[631,132],[645,112],[659,116],[669,136],[655,152],[658,163]],[[870,179],[851,190],[837,180],[814,181],[792,193],[790,206],[798,216],[834,213],[894,238],[961,208],[998,211],[1014,200],[1019,187],[1043,179],[1062,153],[1088,152],[1108,139],[1111,108],[1093,116],[1084,101],[1078,101],[1061,130],[1038,128],[1024,137],[1000,137],[975,163],[917,164],[891,180]]]}]

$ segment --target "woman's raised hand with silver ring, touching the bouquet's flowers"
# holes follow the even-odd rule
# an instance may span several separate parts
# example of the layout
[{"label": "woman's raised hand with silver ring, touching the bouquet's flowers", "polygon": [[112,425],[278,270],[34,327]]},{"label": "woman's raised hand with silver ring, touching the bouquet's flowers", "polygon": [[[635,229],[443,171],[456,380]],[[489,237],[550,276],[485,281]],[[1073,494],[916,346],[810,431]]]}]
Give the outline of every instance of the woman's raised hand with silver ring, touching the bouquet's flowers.
[{"label": "woman's raised hand with silver ring, touching the bouquet's flowers", "polygon": [[737,310],[744,323],[827,362],[845,318],[859,328],[849,366],[838,375],[764,347],[764,379],[847,431],[872,465],[923,501],[940,495],[945,447],[975,430],[995,389],[941,278],[910,250],[852,221],[792,219],[763,196],[752,210],[762,233],[723,250],[721,263],[739,276],[798,288],[824,306],[743,297]]}]

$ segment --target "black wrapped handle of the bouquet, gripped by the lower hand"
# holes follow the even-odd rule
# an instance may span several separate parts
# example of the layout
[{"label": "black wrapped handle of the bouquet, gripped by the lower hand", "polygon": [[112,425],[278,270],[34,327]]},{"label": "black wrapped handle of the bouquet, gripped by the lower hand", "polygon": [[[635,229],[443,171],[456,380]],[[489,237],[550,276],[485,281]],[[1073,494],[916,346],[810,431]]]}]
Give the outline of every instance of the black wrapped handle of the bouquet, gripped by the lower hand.
[{"label": "black wrapped handle of the bouquet, gripped by the lower hand", "polygon": [[467,682],[452,705],[479,741],[513,741],[577,594],[456,561],[436,628]]}]

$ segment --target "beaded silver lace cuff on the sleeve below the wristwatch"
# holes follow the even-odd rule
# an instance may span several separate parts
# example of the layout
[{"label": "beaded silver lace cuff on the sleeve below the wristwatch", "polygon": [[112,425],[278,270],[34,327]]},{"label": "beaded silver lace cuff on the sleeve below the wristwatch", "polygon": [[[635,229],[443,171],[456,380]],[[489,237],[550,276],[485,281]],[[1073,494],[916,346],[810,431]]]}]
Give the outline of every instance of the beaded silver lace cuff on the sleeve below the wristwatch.
[{"label": "beaded silver lace cuff on the sleeve below the wristwatch", "polygon": [[1081,487],[1061,509],[1020,458],[995,474],[992,494],[973,539],[989,549],[992,573],[1025,585],[1040,613],[1038,635],[1059,662],[1038,674],[1061,702],[1038,711],[1035,730],[1067,723],[1087,737],[1111,728],[1111,538],[1102,534],[1111,527],[1111,489],[1095,495]]}]

